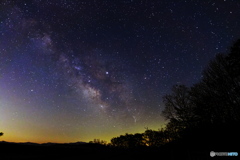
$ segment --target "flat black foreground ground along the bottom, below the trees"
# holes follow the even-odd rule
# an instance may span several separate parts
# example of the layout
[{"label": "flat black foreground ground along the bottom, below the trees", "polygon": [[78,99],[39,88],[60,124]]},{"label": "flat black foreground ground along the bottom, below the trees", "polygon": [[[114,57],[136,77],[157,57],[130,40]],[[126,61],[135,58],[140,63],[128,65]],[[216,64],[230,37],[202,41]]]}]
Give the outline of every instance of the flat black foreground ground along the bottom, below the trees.
[{"label": "flat black foreground ground along the bottom, below the trees", "polygon": [[[205,160],[235,159],[238,157],[210,157],[205,146],[182,146],[169,144],[161,148],[119,149],[89,143],[35,144],[0,142],[0,160],[81,160],[81,159],[121,159],[121,160]],[[215,150],[216,151],[216,150]],[[219,150],[218,150],[219,151]],[[223,150],[221,150],[223,151]],[[224,150],[226,151],[226,150]],[[238,152],[239,153],[239,152]]]}]

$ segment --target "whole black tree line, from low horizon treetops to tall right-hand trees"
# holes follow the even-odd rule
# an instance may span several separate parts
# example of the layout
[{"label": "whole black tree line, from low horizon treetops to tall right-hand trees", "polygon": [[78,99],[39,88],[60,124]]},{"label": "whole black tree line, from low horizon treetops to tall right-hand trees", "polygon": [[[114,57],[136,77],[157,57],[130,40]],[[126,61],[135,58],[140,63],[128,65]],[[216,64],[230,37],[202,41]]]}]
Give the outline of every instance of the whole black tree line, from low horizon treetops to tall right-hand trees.
[{"label": "whole black tree line, from low horizon treetops to tall right-hand trees", "polygon": [[125,134],[111,139],[115,147],[159,147],[184,141],[218,145],[219,139],[239,139],[240,126],[240,39],[227,54],[217,54],[191,87],[174,85],[163,96],[162,115],[168,121],[158,131]]}]

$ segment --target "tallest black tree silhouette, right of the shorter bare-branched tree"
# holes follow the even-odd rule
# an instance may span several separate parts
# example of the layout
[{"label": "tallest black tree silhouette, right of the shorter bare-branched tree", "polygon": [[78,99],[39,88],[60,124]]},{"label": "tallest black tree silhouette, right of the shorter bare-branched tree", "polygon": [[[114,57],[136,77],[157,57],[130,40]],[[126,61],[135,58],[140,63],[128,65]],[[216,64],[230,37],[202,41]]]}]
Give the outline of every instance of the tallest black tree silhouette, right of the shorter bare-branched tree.
[{"label": "tallest black tree silhouette, right of the shorter bare-branched tree", "polygon": [[191,88],[196,113],[204,123],[228,124],[240,120],[240,40],[228,55],[218,54]]}]

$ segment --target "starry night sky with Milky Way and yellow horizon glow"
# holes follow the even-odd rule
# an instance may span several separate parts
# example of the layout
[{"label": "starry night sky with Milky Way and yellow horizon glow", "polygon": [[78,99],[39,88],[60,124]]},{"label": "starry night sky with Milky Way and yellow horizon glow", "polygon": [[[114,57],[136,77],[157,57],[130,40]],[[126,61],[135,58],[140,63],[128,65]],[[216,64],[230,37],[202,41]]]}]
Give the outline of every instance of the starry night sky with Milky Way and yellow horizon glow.
[{"label": "starry night sky with Milky Way and yellow horizon glow", "polygon": [[1,0],[0,140],[158,129],[162,96],[240,38],[238,0]]}]

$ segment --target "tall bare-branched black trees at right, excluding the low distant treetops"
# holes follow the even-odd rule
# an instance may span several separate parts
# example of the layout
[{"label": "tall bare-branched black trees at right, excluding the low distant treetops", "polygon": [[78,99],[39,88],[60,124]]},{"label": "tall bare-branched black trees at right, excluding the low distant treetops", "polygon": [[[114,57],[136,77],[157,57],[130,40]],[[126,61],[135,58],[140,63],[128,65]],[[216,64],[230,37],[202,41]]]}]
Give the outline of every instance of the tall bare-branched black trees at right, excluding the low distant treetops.
[{"label": "tall bare-branched black trees at right, excluding the low distant treetops", "polygon": [[230,124],[240,121],[240,40],[230,53],[218,54],[193,87],[175,85],[163,97],[167,127],[181,130],[197,124]]}]

